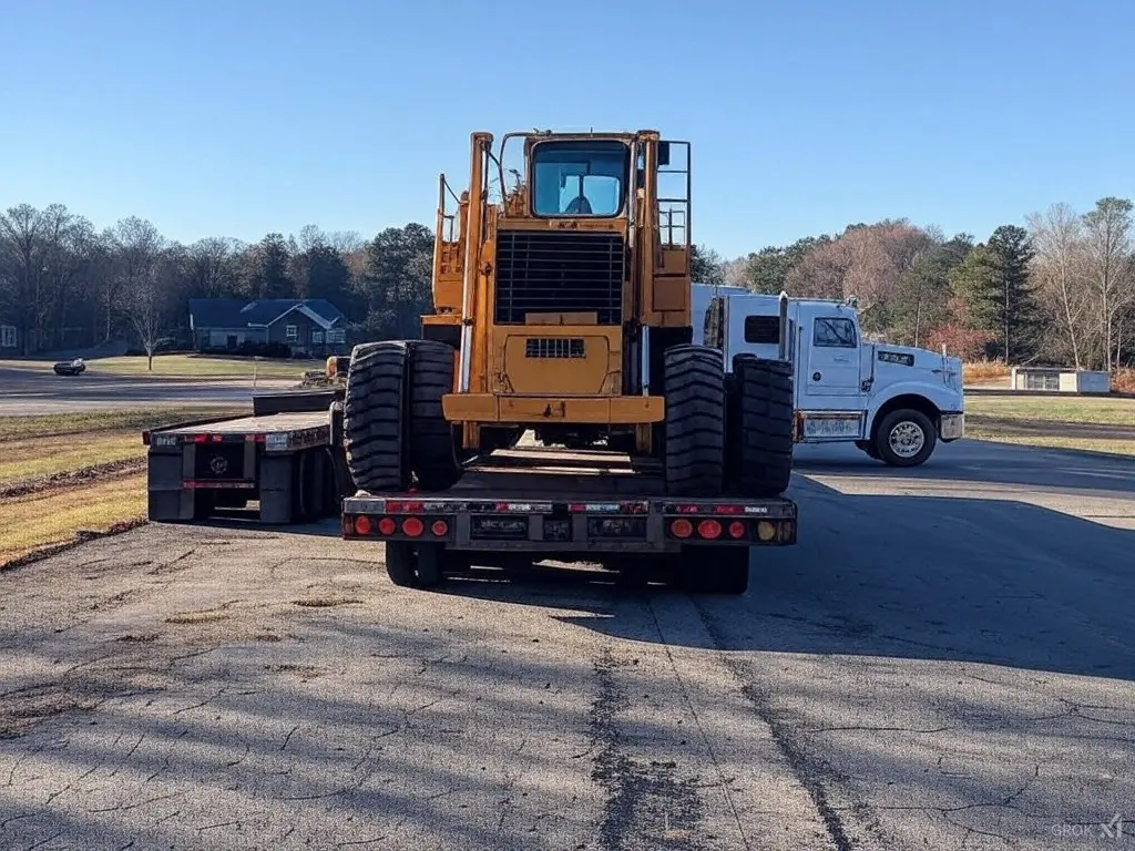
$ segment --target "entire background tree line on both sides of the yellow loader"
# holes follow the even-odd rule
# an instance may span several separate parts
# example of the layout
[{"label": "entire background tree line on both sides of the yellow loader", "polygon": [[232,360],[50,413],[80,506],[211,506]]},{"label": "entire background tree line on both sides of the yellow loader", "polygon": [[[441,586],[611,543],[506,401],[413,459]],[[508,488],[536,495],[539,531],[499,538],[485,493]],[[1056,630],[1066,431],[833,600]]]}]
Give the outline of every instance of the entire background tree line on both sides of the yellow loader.
[{"label": "entire background tree line on both sides of the yellow loader", "polygon": [[[1135,361],[1133,205],[1104,197],[1002,225],[984,242],[907,219],[849,225],[746,256],[697,246],[695,280],[759,293],[858,298],[866,331],[966,359],[1112,369]],[[430,307],[432,231],[411,222],[355,231],[268,234],[243,243],[165,238],[128,217],[99,231],[61,204],[0,212],[0,326],[17,349],[129,338],[152,352],[187,343],[190,298],[327,298],[351,339],[413,336]],[[0,340],[3,343],[3,340]],[[0,349],[0,351],[11,351]]]}]

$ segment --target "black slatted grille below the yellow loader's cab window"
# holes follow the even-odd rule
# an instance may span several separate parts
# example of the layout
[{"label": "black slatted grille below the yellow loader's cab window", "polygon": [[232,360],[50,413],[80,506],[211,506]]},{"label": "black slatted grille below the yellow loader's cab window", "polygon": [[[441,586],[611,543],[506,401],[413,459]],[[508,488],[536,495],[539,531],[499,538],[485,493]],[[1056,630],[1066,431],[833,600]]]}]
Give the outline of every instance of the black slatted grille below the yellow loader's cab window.
[{"label": "black slatted grille below the yellow loader's cab window", "polygon": [[622,321],[625,252],[619,234],[505,230],[497,235],[496,321],[528,313],[596,313]]}]

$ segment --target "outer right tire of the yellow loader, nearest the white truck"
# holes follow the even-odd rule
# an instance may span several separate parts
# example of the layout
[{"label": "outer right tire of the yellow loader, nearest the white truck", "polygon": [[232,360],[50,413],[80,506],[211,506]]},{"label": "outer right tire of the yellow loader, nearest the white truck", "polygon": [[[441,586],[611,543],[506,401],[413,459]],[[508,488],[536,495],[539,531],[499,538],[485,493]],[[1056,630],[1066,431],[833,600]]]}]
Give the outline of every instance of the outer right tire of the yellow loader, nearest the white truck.
[{"label": "outer right tire of the yellow loader, nearest the white truck", "polygon": [[784,361],[733,359],[729,470],[745,497],[775,497],[792,478],[792,366]]}]

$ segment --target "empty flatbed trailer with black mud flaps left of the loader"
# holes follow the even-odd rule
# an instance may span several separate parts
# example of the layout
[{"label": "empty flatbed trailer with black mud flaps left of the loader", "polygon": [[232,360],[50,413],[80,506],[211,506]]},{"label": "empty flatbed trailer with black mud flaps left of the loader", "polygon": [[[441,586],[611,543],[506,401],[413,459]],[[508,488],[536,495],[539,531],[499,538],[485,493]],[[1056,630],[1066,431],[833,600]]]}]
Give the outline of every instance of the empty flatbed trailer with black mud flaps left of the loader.
[{"label": "empty flatbed trailer with black mud flaps left of the loader", "polygon": [[263,523],[338,514],[353,492],[329,390],[253,397],[251,416],[194,420],[143,432],[154,521],[192,522],[257,503]]}]

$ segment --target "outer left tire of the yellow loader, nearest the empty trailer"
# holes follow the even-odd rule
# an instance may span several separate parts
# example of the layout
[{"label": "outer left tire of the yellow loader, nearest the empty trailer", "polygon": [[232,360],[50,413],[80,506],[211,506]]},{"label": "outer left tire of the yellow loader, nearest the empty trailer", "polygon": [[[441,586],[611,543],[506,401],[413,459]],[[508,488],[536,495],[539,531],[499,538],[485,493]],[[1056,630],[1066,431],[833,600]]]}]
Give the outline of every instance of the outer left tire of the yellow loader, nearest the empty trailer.
[{"label": "outer left tire of the yellow loader, nearest the empty trailer", "polygon": [[343,448],[356,488],[404,490],[409,349],[398,342],[363,343],[351,353],[343,401]]}]

